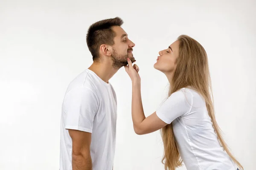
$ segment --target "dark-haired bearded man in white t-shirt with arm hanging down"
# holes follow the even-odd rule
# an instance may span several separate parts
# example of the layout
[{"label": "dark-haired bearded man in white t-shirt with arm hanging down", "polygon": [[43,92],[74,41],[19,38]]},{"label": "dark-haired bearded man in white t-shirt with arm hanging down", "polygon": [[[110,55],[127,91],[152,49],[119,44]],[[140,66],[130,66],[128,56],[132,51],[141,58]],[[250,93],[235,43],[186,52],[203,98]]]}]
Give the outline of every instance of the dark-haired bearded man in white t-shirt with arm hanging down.
[{"label": "dark-haired bearded man in white t-shirt with arm hanging down", "polygon": [[[68,86],[61,114],[60,170],[112,170],[116,144],[116,94],[108,82],[134,62],[135,44],[119,18],[90,26],[87,46],[93,64]],[[136,65],[134,65],[134,68]]]}]

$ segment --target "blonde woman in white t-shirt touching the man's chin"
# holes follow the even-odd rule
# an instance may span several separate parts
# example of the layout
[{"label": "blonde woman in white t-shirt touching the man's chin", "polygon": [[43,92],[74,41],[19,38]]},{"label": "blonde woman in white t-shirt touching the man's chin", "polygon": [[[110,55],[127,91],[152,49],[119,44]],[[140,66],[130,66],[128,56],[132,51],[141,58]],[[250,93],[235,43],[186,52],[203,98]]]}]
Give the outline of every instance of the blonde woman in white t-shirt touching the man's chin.
[{"label": "blonde woman in white t-shirt touching the man's chin", "polygon": [[169,80],[169,98],[147,118],[141,101],[139,68],[127,59],[125,71],[132,81],[135,133],[162,129],[165,170],[175,170],[182,161],[187,170],[243,170],[230,153],[215,119],[204,48],[191,37],[181,35],[159,54],[154,68]]}]

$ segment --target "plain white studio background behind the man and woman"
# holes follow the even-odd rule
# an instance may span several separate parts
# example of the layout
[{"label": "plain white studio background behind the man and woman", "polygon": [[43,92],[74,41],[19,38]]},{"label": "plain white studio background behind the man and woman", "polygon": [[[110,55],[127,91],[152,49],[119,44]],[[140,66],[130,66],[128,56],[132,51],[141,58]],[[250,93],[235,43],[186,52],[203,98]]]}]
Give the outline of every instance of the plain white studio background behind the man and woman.
[{"label": "plain white studio background behind the man and woman", "polygon": [[[253,0],[0,0],[0,170],[58,170],[61,103],[69,82],[92,63],[87,29],[116,16],[136,44],[146,116],[168,91],[153,68],[158,51],[180,34],[204,46],[217,122],[244,169],[254,170],[255,8]],[[110,82],[118,99],[114,170],[163,170],[160,131],[133,131],[124,68]]]}]

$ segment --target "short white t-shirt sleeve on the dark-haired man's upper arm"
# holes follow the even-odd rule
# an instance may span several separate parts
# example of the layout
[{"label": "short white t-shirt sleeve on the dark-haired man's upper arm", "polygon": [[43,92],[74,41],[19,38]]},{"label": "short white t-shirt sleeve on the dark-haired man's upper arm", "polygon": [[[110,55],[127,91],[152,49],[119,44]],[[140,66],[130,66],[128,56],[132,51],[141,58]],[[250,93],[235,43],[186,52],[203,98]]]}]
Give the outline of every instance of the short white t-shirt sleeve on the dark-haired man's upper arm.
[{"label": "short white t-shirt sleeve on the dark-haired man's upper arm", "polygon": [[97,109],[98,101],[93,91],[89,88],[73,89],[66,95],[64,101],[65,129],[92,133]]}]

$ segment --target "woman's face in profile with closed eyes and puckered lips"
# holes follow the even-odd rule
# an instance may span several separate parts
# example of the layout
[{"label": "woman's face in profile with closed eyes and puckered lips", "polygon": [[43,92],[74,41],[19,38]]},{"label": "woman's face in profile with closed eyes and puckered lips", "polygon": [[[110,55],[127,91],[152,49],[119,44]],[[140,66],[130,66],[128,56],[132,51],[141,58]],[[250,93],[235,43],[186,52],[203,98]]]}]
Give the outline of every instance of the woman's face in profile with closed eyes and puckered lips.
[{"label": "woman's face in profile with closed eyes and puckered lips", "polygon": [[157,62],[154,64],[154,68],[169,74],[175,71],[176,59],[179,54],[179,41],[173,42],[167,49],[159,51]]}]

